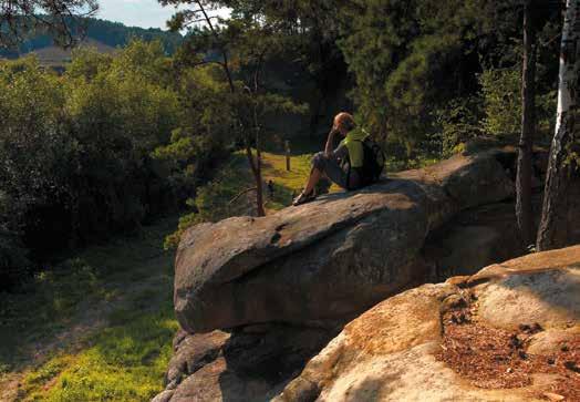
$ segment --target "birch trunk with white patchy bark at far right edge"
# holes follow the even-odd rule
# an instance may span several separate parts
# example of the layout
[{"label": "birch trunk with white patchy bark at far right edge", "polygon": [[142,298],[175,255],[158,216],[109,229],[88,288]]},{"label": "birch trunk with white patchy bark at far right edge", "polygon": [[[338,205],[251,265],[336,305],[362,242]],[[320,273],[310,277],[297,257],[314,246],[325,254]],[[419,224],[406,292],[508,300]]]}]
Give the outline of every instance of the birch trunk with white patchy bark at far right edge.
[{"label": "birch trunk with white patchy bark at far right edge", "polygon": [[574,143],[578,87],[580,87],[580,0],[567,0],[560,49],[558,115],[550,150],[543,208],[538,231],[539,251],[565,247],[568,241],[570,147]]}]

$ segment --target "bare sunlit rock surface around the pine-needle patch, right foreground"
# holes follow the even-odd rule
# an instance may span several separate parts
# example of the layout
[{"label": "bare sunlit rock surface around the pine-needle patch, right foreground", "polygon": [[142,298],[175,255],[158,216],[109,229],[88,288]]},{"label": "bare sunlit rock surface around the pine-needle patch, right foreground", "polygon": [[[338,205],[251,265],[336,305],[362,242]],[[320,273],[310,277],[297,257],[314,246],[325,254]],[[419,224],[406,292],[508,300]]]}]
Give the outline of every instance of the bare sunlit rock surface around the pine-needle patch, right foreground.
[{"label": "bare sunlit rock surface around the pine-needle patch, right foreground", "polygon": [[[558,375],[529,386],[474,386],[436,359],[442,315],[468,291],[487,326],[539,323],[527,353],[578,341],[580,246],[530,255],[392,297],[349,323],[277,398],[278,401],[543,401]],[[448,301],[452,302],[448,302]],[[576,337],[576,338],[574,338]],[[568,386],[578,386],[570,371]],[[572,384],[570,381],[577,381]]]}]

